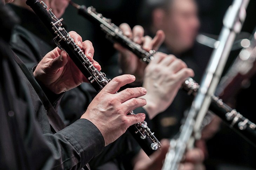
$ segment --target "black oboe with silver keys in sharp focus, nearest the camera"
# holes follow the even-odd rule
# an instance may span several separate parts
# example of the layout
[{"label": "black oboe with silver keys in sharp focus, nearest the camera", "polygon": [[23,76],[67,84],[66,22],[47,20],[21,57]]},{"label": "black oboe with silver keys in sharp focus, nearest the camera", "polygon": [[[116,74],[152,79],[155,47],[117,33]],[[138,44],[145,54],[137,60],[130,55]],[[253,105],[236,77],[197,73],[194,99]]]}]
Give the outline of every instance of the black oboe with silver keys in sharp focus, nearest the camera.
[{"label": "black oboe with silver keys in sharp focus, nearest the camera", "polygon": [[[107,79],[105,73],[98,71],[93,66],[92,62],[89,61],[80,47],[74,42],[73,38],[61,27],[61,21],[63,19],[58,20],[51,9],[47,10],[47,6],[43,1],[27,0],[26,3],[55,36],[53,39],[55,44],[61,50],[65,50],[68,53],[69,57],[74,61],[95,90],[97,92],[101,91],[110,79]],[[128,114],[134,113],[131,111]],[[154,133],[150,131],[146,121],[132,125],[128,130],[147,155],[151,155],[155,150],[161,149],[161,143],[156,139]]]}]

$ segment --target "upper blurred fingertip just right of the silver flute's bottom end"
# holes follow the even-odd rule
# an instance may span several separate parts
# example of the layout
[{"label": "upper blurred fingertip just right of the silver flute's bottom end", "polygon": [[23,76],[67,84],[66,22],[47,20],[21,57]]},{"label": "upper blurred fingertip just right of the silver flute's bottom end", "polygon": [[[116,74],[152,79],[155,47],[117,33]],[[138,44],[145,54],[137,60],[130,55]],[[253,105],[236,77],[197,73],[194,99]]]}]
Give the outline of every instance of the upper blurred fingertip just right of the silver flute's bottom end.
[{"label": "upper blurred fingertip just right of the silver flute's bottom end", "polygon": [[203,151],[198,148],[188,150],[185,157],[186,157],[185,161],[193,162],[193,163],[201,163],[204,160]]}]

